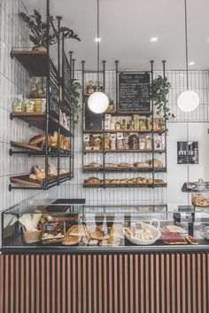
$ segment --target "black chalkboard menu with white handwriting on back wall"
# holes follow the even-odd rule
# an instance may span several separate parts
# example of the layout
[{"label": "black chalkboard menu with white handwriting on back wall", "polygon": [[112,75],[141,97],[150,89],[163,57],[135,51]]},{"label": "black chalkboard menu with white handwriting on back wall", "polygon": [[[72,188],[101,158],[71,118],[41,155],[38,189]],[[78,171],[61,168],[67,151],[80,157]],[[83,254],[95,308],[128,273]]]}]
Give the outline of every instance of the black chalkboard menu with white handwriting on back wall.
[{"label": "black chalkboard menu with white handwriting on back wall", "polygon": [[148,72],[119,74],[119,112],[149,112],[151,75]]}]

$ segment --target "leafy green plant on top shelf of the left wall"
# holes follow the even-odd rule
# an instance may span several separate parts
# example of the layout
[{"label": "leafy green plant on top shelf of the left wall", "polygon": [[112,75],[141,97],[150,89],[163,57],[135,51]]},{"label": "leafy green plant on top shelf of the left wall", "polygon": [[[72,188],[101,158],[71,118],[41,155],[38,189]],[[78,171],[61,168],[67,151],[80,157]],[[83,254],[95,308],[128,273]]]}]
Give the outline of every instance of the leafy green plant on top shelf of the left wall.
[{"label": "leafy green plant on top shelf of the left wall", "polygon": [[[34,50],[46,51],[47,45],[58,43],[57,36],[54,34],[49,35],[48,37],[48,27],[46,21],[43,20],[42,15],[34,10],[33,15],[28,15],[27,13],[20,12],[20,18],[26,23],[27,27],[30,29],[31,34],[29,38],[32,43],[35,44]],[[50,16],[51,20],[54,20],[52,16]],[[51,26],[50,26],[51,27]],[[74,39],[81,41],[78,35],[74,34],[74,30],[69,27],[60,27],[60,39]]]}]

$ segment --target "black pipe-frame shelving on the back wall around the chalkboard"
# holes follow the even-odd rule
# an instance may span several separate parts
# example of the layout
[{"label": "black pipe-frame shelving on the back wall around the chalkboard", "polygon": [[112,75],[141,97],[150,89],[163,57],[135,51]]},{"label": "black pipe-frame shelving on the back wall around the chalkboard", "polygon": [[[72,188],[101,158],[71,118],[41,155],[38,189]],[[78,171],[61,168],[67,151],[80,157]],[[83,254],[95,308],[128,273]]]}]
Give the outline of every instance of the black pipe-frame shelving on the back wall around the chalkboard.
[{"label": "black pipe-frame shelving on the back wall around the chalkboard", "polygon": [[[99,74],[103,74],[103,86],[104,86],[104,91],[105,91],[105,61],[102,61],[103,63],[103,70],[99,71]],[[163,77],[166,77],[166,61],[163,60],[162,61],[162,65],[163,65]],[[123,71],[123,73],[126,71]],[[132,71],[127,71],[128,73],[132,73]],[[89,71],[89,70],[85,70],[85,61],[81,61],[81,83],[82,83],[82,171],[83,173],[90,173],[90,172],[95,172],[95,173],[102,173],[103,174],[103,183],[102,184],[83,184],[84,188],[110,188],[110,187],[149,187],[149,188],[156,188],[156,187],[166,187],[166,183],[165,184],[118,184],[118,185],[113,185],[113,184],[104,184],[104,179],[105,179],[105,173],[111,173],[111,172],[135,172],[135,173],[151,173],[152,176],[152,181],[154,182],[155,179],[155,174],[156,173],[166,173],[166,167],[167,167],[167,161],[166,161],[166,133],[162,134],[162,136],[165,136],[165,147],[162,151],[157,151],[154,148],[154,135],[155,134],[160,134],[161,131],[156,131],[154,129],[154,104],[153,101],[151,101],[151,112],[149,113],[144,113],[142,115],[144,116],[151,116],[152,119],[152,129],[150,131],[137,131],[137,130],[133,130],[133,132],[135,133],[139,133],[139,134],[151,134],[151,143],[152,143],[152,149],[149,152],[139,152],[139,151],[126,151],[126,153],[150,153],[151,154],[151,159],[152,159],[152,167],[151,168],[105,168],[105,155],[106,153],[124,153],[124,151],[120,152],[119,150],[117,151],[105,151],[104,150],[104,134],[105,133],[114,133],[117,132],[117,130],[111,130],[108,131],[108,129],[104,129],[104,114],[103,114],[103,129],[85,129],[84,127],[84,121],[85,121],[85,74],[94,74],[97,73],[97,71]],[[133,71],[133,73],[140,73],[140,71]],[[153,82],[154,79],[154,61],[151,60],[151,71],[149,72],[151,74],[151,84]],[[130,113],[118,113],[118,105],[119,105],[119,74],[120,74],[120,70],[119,70],[119,60],[115,61],[115,75],[116,75],[116,113],[111,113],[112,115],[120,115],[120,116],[127,116],[127,115],[133,115],[134,112],[130,112]],[[164,119],[165,119],[165,129],[166,129],[166,104],[165,104],[165,109],[164,109]],[[118,130],[120,132],[123,132],[123,130]],[[127,131],[128,132],[128,131]],[[130,131],[131,132],[131,131]],[[102,140],[103,140],[103,148],[100,151],[85,151],[84,150],[84,142],[83,142],[83,135],[84,134],[101,134],[103,135]],[[86,155],[87,153],[102,153],[103,154],[103,160],[102,160],[102,167],[100,168],[86,168],[84,166],[84,155]],[[165,154],[165,167],[158,169],[154,167],[154,159],[155,159],[155,154],[156,153],[160,153],[160,154]]]}]

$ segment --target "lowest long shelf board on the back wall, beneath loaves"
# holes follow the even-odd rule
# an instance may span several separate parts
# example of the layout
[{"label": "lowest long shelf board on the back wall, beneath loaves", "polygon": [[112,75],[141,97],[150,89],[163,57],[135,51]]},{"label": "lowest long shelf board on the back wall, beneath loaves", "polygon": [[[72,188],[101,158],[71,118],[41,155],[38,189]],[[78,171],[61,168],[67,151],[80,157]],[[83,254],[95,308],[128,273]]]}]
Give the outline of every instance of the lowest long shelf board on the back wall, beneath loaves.
[{"label": "lowest long shelf board on the back wall, beneath loaves", "polygon": [[166,184],[83,184],[83,188],[163,188]]}]

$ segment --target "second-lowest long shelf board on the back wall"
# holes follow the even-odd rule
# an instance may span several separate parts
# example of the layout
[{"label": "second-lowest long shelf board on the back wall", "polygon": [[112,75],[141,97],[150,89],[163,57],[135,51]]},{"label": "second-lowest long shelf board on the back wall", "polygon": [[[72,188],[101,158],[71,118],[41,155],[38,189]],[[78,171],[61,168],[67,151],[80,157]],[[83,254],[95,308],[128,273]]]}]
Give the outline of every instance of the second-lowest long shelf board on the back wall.
[{"label": "second-lowest long shelf board on the back wall", "polygon": [[136,167],[130,167],[130,168],[89,168],[84,167],[83,172],[137,172],[137,173],[166,173],[166,168],[136,168]]}]

